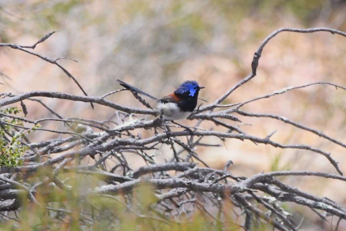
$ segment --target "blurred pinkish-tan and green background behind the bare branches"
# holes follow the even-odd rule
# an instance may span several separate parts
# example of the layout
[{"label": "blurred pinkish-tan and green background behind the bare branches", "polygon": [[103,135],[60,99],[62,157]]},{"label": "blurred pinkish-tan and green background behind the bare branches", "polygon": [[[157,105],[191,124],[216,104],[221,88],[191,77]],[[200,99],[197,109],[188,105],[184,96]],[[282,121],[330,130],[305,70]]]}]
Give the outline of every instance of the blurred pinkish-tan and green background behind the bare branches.
[{"label": "blurred pinkish-tan and green background behind the bare branches", "polygon": [[[344,0],[13,0],[0,1],[0,42],[33,45],[45,34],[57,33],[34,52],[58,62],[90,96],[120,89],[124,80],[161,97],[184,80],[206,88],[200,97],[215,101],[251,72],[253,54],[263,39],[282,28],[330,27],[346,31]],[[257,76],[237,89],[225,103],[242,102],[289,86],[329,81],[346,86],[346,37],[327,32],[280,33],[264,48]],[[82,95],[56,66],[37,57],[0,48],[0,92],[47,90]],[[4,77],[4,76],[7,77]],[[271,113],[310,126],[346,142],[346,92],[330,86],[311,86],[256,101],[243,107]],[[119,104],[143,107],[129,92],[107,97]],[[85,119],[110,119],[110,108],[43,99],[57,113]],[[201,102],[204,105],[206,103]],[[52,117],[35,102],[26,102],[30,119]],[[331,152],[346,172],[345,149],[317,135],[273,119],[240,117],[242,130],[283,144],[305,143]],[[182,121],[193,125],[193,122]],[[206,124],[205,128],[210,128]],[[64,129],[64,128],[61,128]],[[66,129],[66,128],[65,128]],[[217,129],[217,128],[216,128]],[[51,134],[52,137],[56,134]],[[47,139],[37,134],[36,140]],[[210,138],[209,142],[220,143]],[[228,140],[222,148],[197,150],[211,167],[251,176],[273,170],[313,170],[336,173],[326,158],[311,152],[281,150],[251,142]],[[136,165],[136,163],[134,163]],[[140,164],[138,164],[140,165]],[[346,206],[346,184],[315,178],[286,178],[286,183]],[[304,217],[303,230],[331,229],[319,224],[312,211],[296,207]],[[316,221],[316,222],[315,222]],[[329,226],[328,226],[329,225]],[[343,224],[345,227],[345,224]]]}]

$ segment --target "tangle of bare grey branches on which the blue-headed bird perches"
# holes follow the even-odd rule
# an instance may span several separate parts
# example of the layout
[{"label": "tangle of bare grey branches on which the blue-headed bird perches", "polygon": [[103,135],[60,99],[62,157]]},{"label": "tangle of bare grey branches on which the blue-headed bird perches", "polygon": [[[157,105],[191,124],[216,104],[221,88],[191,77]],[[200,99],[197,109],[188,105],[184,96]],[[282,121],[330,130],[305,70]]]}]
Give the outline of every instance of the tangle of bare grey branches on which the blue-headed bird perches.
[{"label": "tangle of bare grey branches on which the blue-headed bird perches", "polygon": [[[47,34],[32,46],[20,46],[9,43],[0,44],[0,47],[10,47],[24,51],[59,66],[61,70],[74,80],[84,93],[84,96],[78,96],[61,92],[30,91],[19,95],[8,93],[2,93],[0,95],[0,107],[2,108],[18,102],[34,100],[52,113],[52,118],[41,118],[36,121],[17,115],[1,113],[0,117],[17,119],[24,123],[24,125],[15,127],[17,132],[23,133],[29,130],[30,126],[42,122],[49,123],[49,127],[53,127],[51,126],[52,124],[59,123],[67,125],[66,130],[53,130],[52,128],[48,128],[48,126],[38,128],[35,133],[53,133],[56,134],[55,138],[32,143],[30,142],[29,136],[26,137],[22,141],[22,145],[29,148],[23,156],[25,164],[16,167],[0,167],[0,211],[16,211],[20,209],[22,201],[19,195],[21,194],[27,194],[28,200],[31,203],[39,203],[35,198],[35,193],[42,184],[49,185],[50,190],[61,189],[69,192],[70,186],[60,178],[63,177],[63,173],[74,171],[78,175],[98,180],[97,186],[85,191],[85,195],[107,197],[123,203],[129,210],[131,210],[131,206],[129,206],[131,200],[127,198],[133,190],[143,184],[150,185],[156,197],[156,201],[150,205],[150,209],[153,211],[151,216],[153,219],[162,222],[166,222],[167,217],[178,217],[183,213],[189,214],[187,212],[188,209],[194,206],[209,214],[211,219],[222,222],[222,219],[225,219],[226,216],[225,208],[223,207],[226,201],[233,204],[235,208],[234,216],[243,217],[243,220],[238,220],[240,221],[238,225],[243,227],[244,230],[249,230],[252,222],[256,222],[256,220],[266,222],[278,230],[297,230],[299,224],[294,223],[291,219],[292,216],[281,207],[283,202],[303,205],[311,208],[315,212],[324,211],[326,213],[317,212],[324,220],[326,220],[326,216],[328,215],[337,216],[339,219],[346,219],[345,208],[335,202],[327,198],[308,194],[277,179],[279,176],[317,176],[337,179],[345,184],[346,178],[342,176],[343,173],[338,167],[338,163],[332,158],[331,153],[307,144],[278,143],[271,140],[272,134],[266,137],[246,134],[239,129],[239,125],[242,122],[238,118],[238,116],[247,116],[276,119],[300,130],[316,134],[342,148],[346,148],[346,144],[342,141],[280,115],[256,114],[245,112],[241,109],[250,102],[273,97],[278,94],[285,94],[288,91],[298,88],[312,85],[331,85],[346,90],[344,86],[330,82],[316,82],[303,86],[288,87],[272,94],[237,104],[224,104],[225,99],[231,93],[237,88],[244,86],[246,82],[256,76],[256,69],[263,48],[270,39],[281,32],[330,32],[346,37],[344,32],[329,28],[282,28],[276,30],[265,38],[254,53],[251,73],[221,95],[214,103],[198,108],[190,116],[190,119],[198,120],[196,125],[191,127],[192,135],[191,131],[184,129],[169,130],[169,132],[166,132],[167,130],[164,129],[164,126],[169,128],[172,124],[170,122],[163,122],[160,119],[146,120],[141,117],[133,118],[133,114],[157,116],[156,112],[152,109],[128,107],[104,99],[110,94],[118,93],[118,90],[99,97],[88,96],[78,81],[57,63],[58,59],[52,60],[27,50],[34,49],[37,44],[44,42],[54,32]],[[115,119],[107,122],[87,120],[79,117],[64,118],[63,115],[58,114],[43,104],[37,97],[96,104],[103,106],[105,109],[115,109],[117,110],[117,114]],[[24,105],[24,103],[22,104]],[[202,121],[211,121],[215,125],[227,128],[228,131],[219,132],[203,128],[201,125]],[[1,123],[6,122],[2,121]],[[154,133],[150,137],[142,137],[140,133],[134,131],[138,129],[152,130]],[[60,134],[64,134],[64,136],[60,136]],[[1,138],[9,139],[10,135],[5,134]],[[246,178],[234,176],[231,171],[227,171],[227,167],[231,162],[227,163],[224,170],[212,169],[208,166],[201,167],[197,163],[203,165],[204,162],[197,156],[198,151],[196,148],[198,146],[219,146],[218,144],[209,144],[205,141],[203,143],[205,137],[208,136],[218,137],[221,141],[226,139],[249,140],[255,144],[271,145],[281,149],[297,149],[309,152],[310,154],[321,154],[334,166],[340,175],[312,171],[277,171],[260,173]],[[187,141],[183,141],[184,137],[188,137]],[[158,164],[155,160],[155,153],[165,145],[172,150],[169,151],[171,152],[172,158],[166,160],[165,163]],[[129,153],[137,155],[137,158],[142,159],[146,163],[146,166],[133,169],[129,164]],[[183,156],[184,153],[187,153],[187,157]],[[38,183],[30,183],[31,181],[28,180],[29,177],[33,177],[35,173],[43,168],[48,169],[48,172],[50,172],[45,177],[45,180]],[[219,208],[218,213],[208,211],[208,206],[211,205]],[[49,208],[49,210],[56,211],[57,214],[71,213],[63,208],[52,208],[49,202],[44,206]],[[85,224],[89,224],[93,219],[90,218],[90,214],[85,215],[87,213],[86,211],[88,210],[84,210],[84,214],[80,214],[79,219],[83,220]],[[138,211],[134,213],[138,216],[143,216],[143,214],[138,214]],[[9,219],[12,215],[0,214],[2,219]],[[112,216],[112,219],[117,219],[117,217],[114,217],[114,214],[109,215]],[[62,221],[62,217],[63,215],[57,216],[57,222]],[[15,215],[12,218],[15,219]]]}]

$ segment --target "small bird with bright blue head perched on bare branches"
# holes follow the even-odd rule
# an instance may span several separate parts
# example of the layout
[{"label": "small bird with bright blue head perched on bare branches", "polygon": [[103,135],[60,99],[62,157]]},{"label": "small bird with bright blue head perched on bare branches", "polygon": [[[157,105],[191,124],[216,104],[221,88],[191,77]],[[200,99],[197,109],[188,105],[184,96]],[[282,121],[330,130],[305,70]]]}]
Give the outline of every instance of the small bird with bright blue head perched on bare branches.
[{"label": "small bird with bright blue head perched on bare branches", "polygon": [[145,95],[157,101],[156,109],[166,120],[184,119],[191,115],[197,106],[198,92],[204,87],[200,87],[196,81],[185,81],[172,93],[162,99],[155,98],[144,91],[139,90],[119,79],[120,85],[130,91]]}]

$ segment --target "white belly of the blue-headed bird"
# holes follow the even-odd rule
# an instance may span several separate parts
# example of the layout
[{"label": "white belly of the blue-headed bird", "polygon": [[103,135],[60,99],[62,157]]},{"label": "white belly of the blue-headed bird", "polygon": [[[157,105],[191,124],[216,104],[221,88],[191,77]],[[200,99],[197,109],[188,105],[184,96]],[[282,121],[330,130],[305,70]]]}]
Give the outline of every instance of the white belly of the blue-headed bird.
[{"label": "white belly of the blue-headed bird", "polygon": [[179,107],[174,103],[162,103],[157,104],[157,110],[163,115],[163,119],[177,120],[189,117],[192,112],[181,112]]}]

